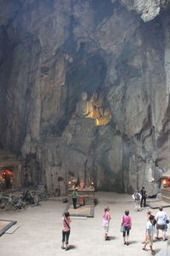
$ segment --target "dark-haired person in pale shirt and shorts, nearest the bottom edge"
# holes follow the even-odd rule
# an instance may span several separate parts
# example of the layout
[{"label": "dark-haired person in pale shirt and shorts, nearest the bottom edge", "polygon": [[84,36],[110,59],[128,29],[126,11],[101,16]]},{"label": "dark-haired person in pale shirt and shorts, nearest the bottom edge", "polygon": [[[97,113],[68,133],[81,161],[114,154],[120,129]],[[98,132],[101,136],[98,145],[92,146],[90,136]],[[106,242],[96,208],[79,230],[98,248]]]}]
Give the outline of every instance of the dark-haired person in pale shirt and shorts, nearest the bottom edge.
[{"label": "dark-haired person in pale shirt and shorts, nearest the bottom edge", "polygon": [[153,250],[153,236],[154,236],[154,220],[155,217],[153,215],[150,215],[150,220],[146,224],[146,230],[147,230],[147,240],[144,243],[144,247],[142,248],[144,251],[147,251],[146,247],[147,244],[150,243],[150,251],[151,254],[154,255],[155,251]]}]

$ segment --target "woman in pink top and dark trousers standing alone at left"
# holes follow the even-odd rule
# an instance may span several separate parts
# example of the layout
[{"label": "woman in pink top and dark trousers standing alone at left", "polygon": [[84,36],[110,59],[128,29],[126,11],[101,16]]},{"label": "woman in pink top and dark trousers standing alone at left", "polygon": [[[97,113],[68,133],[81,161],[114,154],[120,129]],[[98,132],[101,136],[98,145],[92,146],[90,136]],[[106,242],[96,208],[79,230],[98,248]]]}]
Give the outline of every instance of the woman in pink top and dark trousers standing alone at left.
[{"label": "woman in pink top and dark trousers standing alone at left", "polygon": [[69,243],[69,236],[71,232],[71,218],[70,218],[70,213],[65,212],[62,218],[63,222],[63,229],[62,229],[62,249],[65,249],[65,251],[68,251],[68,243]]}]

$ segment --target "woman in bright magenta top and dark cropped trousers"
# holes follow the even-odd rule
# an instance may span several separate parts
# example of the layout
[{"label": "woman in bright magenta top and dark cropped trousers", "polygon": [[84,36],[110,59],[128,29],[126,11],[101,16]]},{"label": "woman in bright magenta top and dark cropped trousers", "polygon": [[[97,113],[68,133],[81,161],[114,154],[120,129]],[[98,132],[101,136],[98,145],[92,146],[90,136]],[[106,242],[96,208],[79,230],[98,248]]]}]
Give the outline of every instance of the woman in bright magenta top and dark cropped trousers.
[{"label": "woman in bright magenta top and dark cropped trousers", "polygon": [[[122,232],[123,242],[127,246],[129,245],[128,237],[129,237],[129,231],[132,228],[132,218],[128,216],[129,211],[125,211],[125,215],[122,216],[122,226],[124,226],[124,231]],[[126,239],[127,237],[127,239]]]}]

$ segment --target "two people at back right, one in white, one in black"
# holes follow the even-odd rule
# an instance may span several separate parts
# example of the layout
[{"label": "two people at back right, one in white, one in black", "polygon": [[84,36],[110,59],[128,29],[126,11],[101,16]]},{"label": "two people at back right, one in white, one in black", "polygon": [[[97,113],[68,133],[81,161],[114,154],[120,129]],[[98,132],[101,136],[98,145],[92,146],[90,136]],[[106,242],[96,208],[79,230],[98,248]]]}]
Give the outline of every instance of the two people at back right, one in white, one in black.
[{"label": "two people at back right, one in white, one in black", "polygon": [[142,187],[142,189],[140,190],[140,193],[138,190],[136,190],[133,193],[132,198],[135,202],[135,208],[137,211],[139,211],[142,207],[146,207],[147,194],[144,187]]}]

